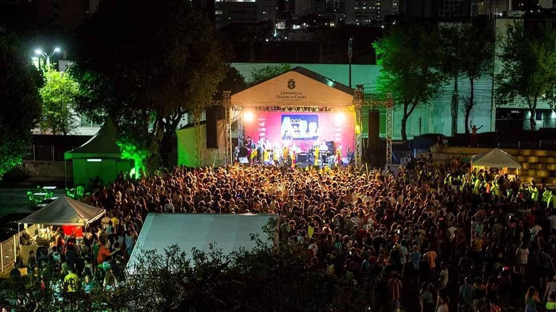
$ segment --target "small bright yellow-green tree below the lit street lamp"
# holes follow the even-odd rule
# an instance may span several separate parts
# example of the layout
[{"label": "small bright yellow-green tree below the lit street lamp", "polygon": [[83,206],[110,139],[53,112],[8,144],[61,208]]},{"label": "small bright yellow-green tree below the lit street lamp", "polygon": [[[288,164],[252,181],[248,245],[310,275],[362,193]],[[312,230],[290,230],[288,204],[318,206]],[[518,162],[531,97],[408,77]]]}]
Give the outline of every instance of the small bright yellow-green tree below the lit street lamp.
[{"label": "small bright yellow-green tree below the lit street lamp", "polygon": [[78,127],[75,100],[77,82],[67,73],[50,68],[44,71],[44,85],[39,89],[42,98],[41,130],[64,135]]}]

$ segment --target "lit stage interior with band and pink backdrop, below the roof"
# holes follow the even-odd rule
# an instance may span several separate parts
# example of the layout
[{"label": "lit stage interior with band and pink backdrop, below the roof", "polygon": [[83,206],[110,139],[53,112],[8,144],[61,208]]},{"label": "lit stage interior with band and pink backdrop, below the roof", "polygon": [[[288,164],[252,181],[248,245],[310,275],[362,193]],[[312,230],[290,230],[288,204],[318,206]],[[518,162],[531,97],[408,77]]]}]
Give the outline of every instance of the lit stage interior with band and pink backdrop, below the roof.
[{"label": "lit stage interior with band and pink backdrop, below the roof", "polygon": [[256,111],[242,113],[243,145],[234,158],[241,163],[296,164],[299,167],[354,162],[355,116],[351,112]]}]

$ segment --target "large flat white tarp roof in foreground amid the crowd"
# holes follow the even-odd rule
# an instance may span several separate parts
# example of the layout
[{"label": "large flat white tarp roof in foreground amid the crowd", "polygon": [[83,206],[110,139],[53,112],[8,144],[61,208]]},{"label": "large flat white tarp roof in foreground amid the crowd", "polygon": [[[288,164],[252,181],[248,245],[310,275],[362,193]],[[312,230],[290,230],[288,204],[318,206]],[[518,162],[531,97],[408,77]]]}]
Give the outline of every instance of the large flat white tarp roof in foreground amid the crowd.
[{"label": "large flat white tarp roof in foreground amid the crowd", "polygon": [[178,245],[191,259],[193,247],[209,251],[209,244],[224,254],[255,247],[250,234],[259,234],[262,241],[266,235],[262,228],[272,214],[161,214],[150,213],[133,248],[127,269],[133,271],[143,251],[156,250],[163,255],[164,249]]}]

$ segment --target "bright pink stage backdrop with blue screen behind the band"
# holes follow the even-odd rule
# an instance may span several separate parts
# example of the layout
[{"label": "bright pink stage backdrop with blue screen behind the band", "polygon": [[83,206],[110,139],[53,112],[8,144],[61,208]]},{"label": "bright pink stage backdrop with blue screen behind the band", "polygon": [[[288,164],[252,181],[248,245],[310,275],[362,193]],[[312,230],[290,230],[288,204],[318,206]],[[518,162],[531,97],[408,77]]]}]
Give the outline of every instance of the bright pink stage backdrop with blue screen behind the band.
[{"label": "bright pink stage backdrop with blue screen behind the band", "polygon": [[245,137],[255,142],[269,139],[273,145],[295,145],[302,151],[309,150],[319,141],[334,141],[335,149],[341,148],[345,155],[355,147],[355,116],[350,112],[291,113],[249,112],[253,116],[245,120]]}]

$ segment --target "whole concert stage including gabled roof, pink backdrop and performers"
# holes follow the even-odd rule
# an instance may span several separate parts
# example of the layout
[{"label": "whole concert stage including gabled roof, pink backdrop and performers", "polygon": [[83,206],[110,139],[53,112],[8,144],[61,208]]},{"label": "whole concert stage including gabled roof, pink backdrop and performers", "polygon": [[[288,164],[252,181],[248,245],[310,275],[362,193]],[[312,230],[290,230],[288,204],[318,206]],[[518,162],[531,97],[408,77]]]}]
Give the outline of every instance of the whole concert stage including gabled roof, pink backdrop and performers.
[{"label": "whole concert stage including gabled roof, pink backdrop and performers", "polygon": [[227,163],[361,164],[362,98],[359,90],[301,67],[225,95]]}]

